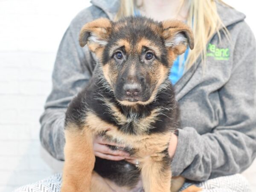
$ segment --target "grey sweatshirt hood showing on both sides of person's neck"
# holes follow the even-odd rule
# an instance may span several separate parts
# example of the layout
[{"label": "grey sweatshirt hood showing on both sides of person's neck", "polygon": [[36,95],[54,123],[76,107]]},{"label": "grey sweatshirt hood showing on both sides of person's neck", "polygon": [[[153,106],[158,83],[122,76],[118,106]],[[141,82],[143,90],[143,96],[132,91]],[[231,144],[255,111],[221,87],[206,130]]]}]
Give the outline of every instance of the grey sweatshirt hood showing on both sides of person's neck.
[{"label": "grey sweatshirt hood showing on both sides of person's neck", "polygon": [[[91,0],[91,3],[94,6],[97,6],[100,9],[102,9],[111,20],[114,19],[120,5],[119,0]],[[221,20],[226,27],[234,23],[237,23],[241,20],[244,20],[245,18],[245,15],[243,13],[237,11],[236,9],[223,5],[222,3],[219,3],[217,0],[216,5],[218,14],[220,15]]]}]

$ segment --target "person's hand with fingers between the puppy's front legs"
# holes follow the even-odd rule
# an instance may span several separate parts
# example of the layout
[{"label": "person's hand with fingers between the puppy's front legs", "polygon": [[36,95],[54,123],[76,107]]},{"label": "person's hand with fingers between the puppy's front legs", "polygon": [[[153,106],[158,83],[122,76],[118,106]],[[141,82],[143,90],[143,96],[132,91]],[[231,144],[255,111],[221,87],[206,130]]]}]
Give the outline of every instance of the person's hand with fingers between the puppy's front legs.
[{"label": "person's hand with fingers between the puppy's front legs", "polygon": [[108,145],[118,146],[124,148],[125,146],[119,145],[117,143],[111,143],[103,140],[102,137],[96,137],[93,140],[93,151],[94,155],[102,159],[108,159],[113,161],[126,160],[130,163],[136,163],[130,154],[124,150],[112,150]]}]

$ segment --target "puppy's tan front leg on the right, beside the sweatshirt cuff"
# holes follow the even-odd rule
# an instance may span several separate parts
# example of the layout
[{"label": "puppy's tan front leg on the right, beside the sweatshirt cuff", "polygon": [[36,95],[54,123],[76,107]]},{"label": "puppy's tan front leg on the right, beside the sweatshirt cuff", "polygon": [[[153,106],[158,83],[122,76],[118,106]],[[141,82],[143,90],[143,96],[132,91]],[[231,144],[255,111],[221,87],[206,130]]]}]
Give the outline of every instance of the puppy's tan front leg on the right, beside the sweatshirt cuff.
[{"label": "puppy's tan front leg on the right, beside the sweatshirt cuff", "polygon": [[140,163],[145,192],[170,192],[171,165],[168,154],[146,157]]}]

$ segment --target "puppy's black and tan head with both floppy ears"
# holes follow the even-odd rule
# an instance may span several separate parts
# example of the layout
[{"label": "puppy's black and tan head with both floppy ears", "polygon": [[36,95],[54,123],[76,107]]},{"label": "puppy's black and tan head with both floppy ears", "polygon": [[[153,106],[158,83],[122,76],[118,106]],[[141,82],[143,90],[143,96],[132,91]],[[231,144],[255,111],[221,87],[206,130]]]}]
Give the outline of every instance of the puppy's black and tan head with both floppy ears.
[{"label": "puppy's black and tan head with both floppy ears", "polygon": [[100,18],[83,26],[81,47],[88,45],[122,105],[152,102],[177,55],[194,47],[192,31],[177,20],[156,22],[127,17],[118,22]]}]

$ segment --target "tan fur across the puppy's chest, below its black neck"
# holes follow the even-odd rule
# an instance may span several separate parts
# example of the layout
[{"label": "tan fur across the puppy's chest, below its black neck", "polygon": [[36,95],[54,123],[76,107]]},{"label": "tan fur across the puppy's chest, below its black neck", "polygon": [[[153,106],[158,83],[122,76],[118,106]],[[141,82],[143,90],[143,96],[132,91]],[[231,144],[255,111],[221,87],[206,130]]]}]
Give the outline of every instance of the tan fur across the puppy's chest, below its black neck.
[{"label": "tan fur across the puppy's chest, below its black neck", "polygon": [[[112,108],[113,109],[113,108]],[[145,130],[149,128],[150,124],[157,119],[159,110],[154,110],[151,115],[142,118],[140,120],[127,119],[117,109],[114,109],[113,116],[119,119],[119,123],[126,123],[127,121],[134,121],[134,127],[138,129],[138,134],[128,134],[120,131],[116,126],[108,124],[100,119],[95,113],[88,112],[84,119],[85,127],[89,128],[93,132],[93,135],[99,135],[105,133],[105,138],[114,141],[121,145],[125,145],[125,148],[134,149],[134,157],[142,158],[145,156],[151,156],[168,147],[171,133],[154,133],[146,134]],[[135,114],[134,114],[135,116]],[[133,118],[133,117],[131,117]]]}]

